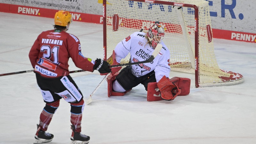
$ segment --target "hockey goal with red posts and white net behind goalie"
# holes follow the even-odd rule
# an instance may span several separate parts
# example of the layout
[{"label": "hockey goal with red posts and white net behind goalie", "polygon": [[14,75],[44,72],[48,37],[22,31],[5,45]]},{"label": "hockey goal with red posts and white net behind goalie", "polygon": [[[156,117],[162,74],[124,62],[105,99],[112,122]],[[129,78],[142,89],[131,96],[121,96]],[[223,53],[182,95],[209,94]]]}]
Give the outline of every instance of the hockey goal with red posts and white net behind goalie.
[{"label": "hockey goal with red posts and white net behind goalie", "polygon": [[[239,84],[239,73],[220,69],[214,54],[211,19],[205,0],[103,0],[104,60],[116,44],[155,21],[165,29],[173,71],[195,74],[195,86]],[[129,62],[129,55],[123,60]]]}]

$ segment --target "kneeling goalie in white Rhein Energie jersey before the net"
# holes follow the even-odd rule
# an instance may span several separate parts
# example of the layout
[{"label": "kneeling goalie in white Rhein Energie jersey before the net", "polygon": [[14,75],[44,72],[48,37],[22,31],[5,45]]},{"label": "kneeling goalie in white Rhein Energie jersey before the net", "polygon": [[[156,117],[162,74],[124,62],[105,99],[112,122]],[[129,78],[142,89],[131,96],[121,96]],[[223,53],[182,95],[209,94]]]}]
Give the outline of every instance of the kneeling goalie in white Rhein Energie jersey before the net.
[{"label": "kneeling goalie in white Rhein Energie jersey before the net", "polygon": [[[163,42],[164,36],[164,28],[159,22],[155,22],[147,33],[134,32],[116,45],[109,58],[113,59],[111,65],[119,64],[128,53],[131,55],[130,63],[132,63],[147,60],[158,44],[162,45],[162,49],[149,63],[126,66],[120,73],[117,72],[120,68],[112,68],[112,73],[107,77],[108,97],[122,96],[139,84],[143,84],[148,91],[148,101],[173,100],[180,94],[180,91],[176,91],[178,87],[168,78],[171,70],[170,52]],[[152,84],[149,86],[150,83]]]}]

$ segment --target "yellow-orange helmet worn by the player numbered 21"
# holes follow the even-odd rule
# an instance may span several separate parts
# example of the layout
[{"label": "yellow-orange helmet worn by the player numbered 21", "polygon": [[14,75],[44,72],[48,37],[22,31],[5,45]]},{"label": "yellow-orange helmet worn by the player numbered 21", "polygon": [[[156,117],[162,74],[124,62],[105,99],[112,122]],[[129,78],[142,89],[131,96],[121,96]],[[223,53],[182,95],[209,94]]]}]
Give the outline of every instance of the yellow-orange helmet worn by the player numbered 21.
[{"label": "yellow-orange helmet worn by the player numbered 21", "polygon": [[54,16],[54,24],[66,27],[68,23],[72,22],[72,15],[68,11],[58,11]]}]

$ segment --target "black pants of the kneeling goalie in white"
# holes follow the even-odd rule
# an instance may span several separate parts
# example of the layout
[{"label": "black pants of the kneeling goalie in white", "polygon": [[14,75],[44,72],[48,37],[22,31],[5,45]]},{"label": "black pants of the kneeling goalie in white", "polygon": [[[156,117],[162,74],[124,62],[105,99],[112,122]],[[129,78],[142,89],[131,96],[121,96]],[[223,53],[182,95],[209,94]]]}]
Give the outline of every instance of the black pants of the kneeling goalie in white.
[{"label": "black pants of the kneeling goalie in white", "polygon": [[145,76],[136,77],[132,74],[132,70],[129,66],[126,66],[124,69],[120,71],[120,73],[116,76],[116,80],[119,84],[126,90],[131,90],[133,87],[143,84],[145,90],[148,90],[148,83],[156,82],[155,71],[151,71]]}]

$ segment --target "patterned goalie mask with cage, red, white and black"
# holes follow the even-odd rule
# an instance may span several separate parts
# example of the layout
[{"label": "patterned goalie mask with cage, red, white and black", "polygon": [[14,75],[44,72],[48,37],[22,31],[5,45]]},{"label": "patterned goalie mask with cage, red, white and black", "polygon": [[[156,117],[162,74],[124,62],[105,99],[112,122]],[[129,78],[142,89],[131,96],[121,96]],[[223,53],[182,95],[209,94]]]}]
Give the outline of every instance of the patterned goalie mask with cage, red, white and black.
[{"label": "patterned goalie mask with cage, red, white and black", "polygon": [[152,47],[156,48],[156,45],[164,39],[164,28],[158,22],[155,22],[155,24],[148,29],[147,36]]}]

